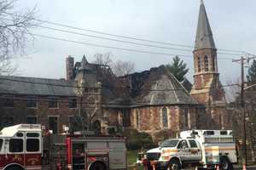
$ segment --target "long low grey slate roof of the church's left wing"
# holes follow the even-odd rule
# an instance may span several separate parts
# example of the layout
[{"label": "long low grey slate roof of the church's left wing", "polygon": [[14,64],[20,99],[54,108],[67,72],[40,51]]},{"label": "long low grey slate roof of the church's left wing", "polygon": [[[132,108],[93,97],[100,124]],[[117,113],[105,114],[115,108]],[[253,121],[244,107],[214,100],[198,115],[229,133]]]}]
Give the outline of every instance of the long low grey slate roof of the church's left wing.
[{"label": "long low grey slate roof of the church's left wing", "polygon": [[75,81],[0,76],[0,94],[76,96],[76,86]]}]

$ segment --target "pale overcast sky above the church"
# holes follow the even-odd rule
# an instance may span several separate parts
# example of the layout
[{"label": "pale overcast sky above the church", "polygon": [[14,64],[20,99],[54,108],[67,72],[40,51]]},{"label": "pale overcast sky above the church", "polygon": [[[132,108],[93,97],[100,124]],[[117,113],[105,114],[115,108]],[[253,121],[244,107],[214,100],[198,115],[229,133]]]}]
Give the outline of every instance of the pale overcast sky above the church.
[{"label": "pale overcast sky above the church", "polygon": [[[40,20],[122,36],[193,46],[200,0],[20,0],[20,5],[17,8],[32,8],[35,5],[37,5]],[[256,49],[254,48],[256,1],[205,0],[205,5],[217,48],[244,50],[256,54]],[[44,24],[43,26],[49,25]],[[76,31],[65,27],[51,27]],[[42,28],[37,28],[32,32],[118,48],[134,48],[167,54],[186,54],[189,56],[183,57],[183,60],[189,66],[187,77],[189,80],[193,80],[192,50],[191,52],[181,52],[162,48],[148,48],[49,31]],[[86,31],[79,32],[107,37]],[[28,53],[32,54],[15,60],[15,63],[19,65],[20,76],[66,77],[65,58],[67,55],[72,55],[76,61],[79,61],[85,54],[89,61],[93,61],[94,54],[111,52],[113,60],[135,62],[137,71],[148,70],[150,67],[172,62],[172,56],[168,55],[140,54],[111,48],[85,46],[72,42],[55,41],[43,37],[35,38],[35,41],[28,48]],[[128,41],[135,42],[134,40]],[[221,59],[223,57],[237,58],[237,56],[218,55],[218,71],[222,82],[236,81],[240,75],[239,65],[232,63],[231,59]]]}]

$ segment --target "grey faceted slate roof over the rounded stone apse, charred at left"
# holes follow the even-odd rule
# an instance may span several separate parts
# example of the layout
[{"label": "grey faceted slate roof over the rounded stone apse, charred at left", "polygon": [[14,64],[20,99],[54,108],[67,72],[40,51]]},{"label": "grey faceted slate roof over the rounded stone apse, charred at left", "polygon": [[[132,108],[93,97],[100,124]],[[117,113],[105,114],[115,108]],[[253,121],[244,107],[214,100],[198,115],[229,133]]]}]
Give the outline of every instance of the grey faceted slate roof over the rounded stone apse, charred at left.
[{"label": "grey faceted slate roof over the rounded stone apse, charred at left", "polygon": [[131,75],[137,84],[133,105],[197,105],[183,85],[162,65]]}]

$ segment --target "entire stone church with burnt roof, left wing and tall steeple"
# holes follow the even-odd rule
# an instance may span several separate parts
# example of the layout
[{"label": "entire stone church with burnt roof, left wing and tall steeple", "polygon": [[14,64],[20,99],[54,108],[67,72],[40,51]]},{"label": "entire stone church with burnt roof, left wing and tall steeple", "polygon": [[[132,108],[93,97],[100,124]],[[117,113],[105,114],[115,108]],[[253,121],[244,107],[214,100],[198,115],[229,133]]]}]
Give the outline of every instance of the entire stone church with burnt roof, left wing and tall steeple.
[{"label": "entire stone church with burnt roof, left wing and tall steeple", "polygon": [[190,93],[164,65],[115,77],[108,65],[90,63],[85,56],[80,62],[67,57],[66,79],[0,76],[0,127],[40,123],[53,133],[63,133],[63,127],[96,133],[121,133],[132,127],[152,135],[223,128],[224,89],[203,2],[194,60]]}]

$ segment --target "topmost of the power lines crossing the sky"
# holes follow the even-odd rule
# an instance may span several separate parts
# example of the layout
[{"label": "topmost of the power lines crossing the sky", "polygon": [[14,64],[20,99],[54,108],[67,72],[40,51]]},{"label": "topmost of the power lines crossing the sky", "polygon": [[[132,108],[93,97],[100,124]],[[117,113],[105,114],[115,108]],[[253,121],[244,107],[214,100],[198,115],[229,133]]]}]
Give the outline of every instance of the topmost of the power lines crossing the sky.
[{"label": "topmost of the power lines crossing the sky", "polygon": [[[11,13],[7,13],[7,12],[3,12],[4,14],[9,14],[12,15]],[[26,16],[23,15],[18,15],[22,18],[27,18]],[[126,39],[131,39],[131,40],[137,40],[137,41],[141,41],[141,42],[153,42],[153,43],[159,43],[159,44],[165,44],[165,45],[170,45],[170,46],[177,46],[177,47],[183,47],[183,48],[194,48],[193,46],[189,46],[189,45],[183,45],[183,44],[177,44],[177,43],[171,43],[171,42],[159,42],[159,41],[152,41],[152,40],[148,40],[148,39],[143,39],[143,38],[137,38],[137,37],[129,37],[129,36],[122,36],[122,35],[117,35],[117,34],[111,34],[111,33],[107,33],[107,32],[103,32],[103,31],[94,31],[94,30],[90,30],[90,29],[84,29],[84,28],[79,28],[76,26],[68,26],[65,24],[60,24],[60,23],[56,23],[56,22],[51,22],[51,21],[47,21],[47,20],[38,20],[38,19],[32,19],[32,20],[37,20],[39,22],[42,23],[47,23],[49,25],[54,25],[54,26],[61,26],[61,27],[67,27],[67,28],[71,28],[74,30],[79,30],[79,31],[89,31],[89,32],[93,32],[93,33],[97,33],[97,34],[102,34],[102,35],[107,35],[107,36],[113,36],[113,37],[121,37],[121,38],[126,38]],[[111,39],[111,38],[109,38]],[[238,53],[244,53],[243,51],[239,51],[239,50],[230,50],[230,49],[218,49],[221,51],[230,51],[230,52],[238,52]]]}]

